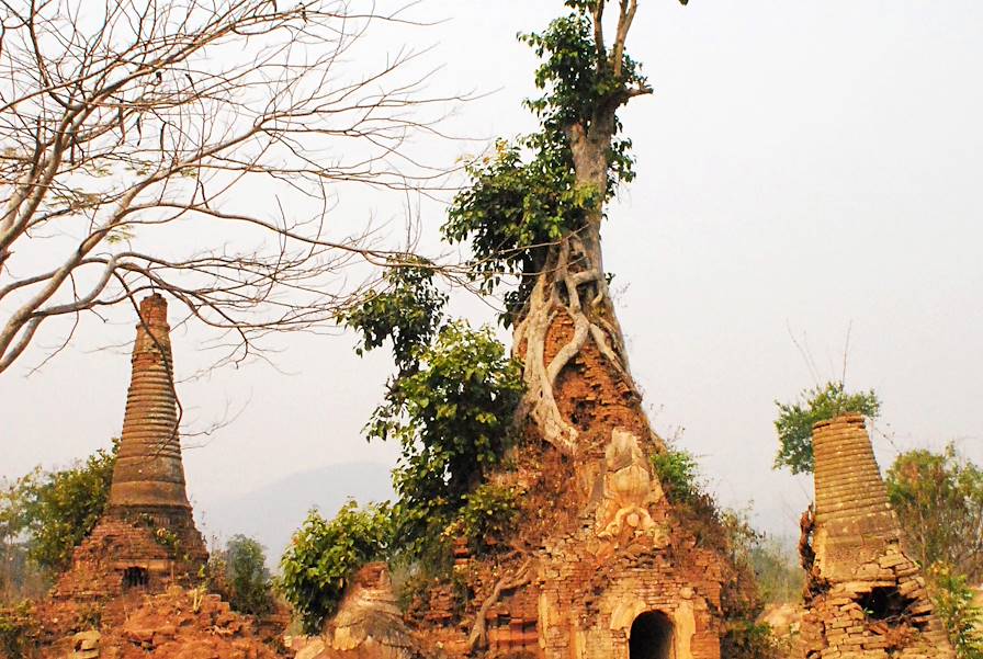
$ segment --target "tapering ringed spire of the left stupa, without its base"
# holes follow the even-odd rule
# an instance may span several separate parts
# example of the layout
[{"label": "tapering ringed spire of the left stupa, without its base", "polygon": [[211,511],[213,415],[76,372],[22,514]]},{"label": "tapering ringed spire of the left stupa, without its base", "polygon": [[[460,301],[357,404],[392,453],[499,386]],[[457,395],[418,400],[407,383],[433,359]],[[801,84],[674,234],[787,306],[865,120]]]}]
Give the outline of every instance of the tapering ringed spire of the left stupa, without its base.
[{"label": "tapering ringed spire of the left stupa, without its base", "polygon": [[189,515],[163,297],[145,298],[140,318],[109,509],[111,514]]}]

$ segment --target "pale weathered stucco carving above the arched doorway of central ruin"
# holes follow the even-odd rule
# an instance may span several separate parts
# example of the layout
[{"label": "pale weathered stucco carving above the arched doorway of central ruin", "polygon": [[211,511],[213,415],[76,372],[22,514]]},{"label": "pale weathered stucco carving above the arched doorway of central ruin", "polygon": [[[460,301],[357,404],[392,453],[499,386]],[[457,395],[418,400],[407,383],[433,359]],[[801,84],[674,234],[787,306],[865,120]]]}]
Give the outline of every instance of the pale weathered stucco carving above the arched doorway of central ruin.
[{"label": "pale weathered stucco carving above the arched doorway of central ruin", "polygon": [[612,538],[626,530],[654,530],[648,507],[663,498],[663,491],[648,473],[639,438],[615,429],[605,452],[605,467],[603,498],[597,512],[598,536]]}]

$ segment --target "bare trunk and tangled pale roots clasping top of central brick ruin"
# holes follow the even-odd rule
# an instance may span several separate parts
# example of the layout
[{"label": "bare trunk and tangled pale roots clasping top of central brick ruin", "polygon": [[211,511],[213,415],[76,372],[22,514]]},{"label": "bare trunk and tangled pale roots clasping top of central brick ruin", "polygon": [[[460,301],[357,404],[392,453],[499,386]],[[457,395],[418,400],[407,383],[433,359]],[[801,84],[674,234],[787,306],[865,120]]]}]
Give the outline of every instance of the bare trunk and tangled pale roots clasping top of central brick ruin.
[{"label": "bare trunk and tangled pale roots clasping top of central brick ruin", "polygon": [[570,457],[603,452],[615,428],[655,438],[629,372],[600,245],[614,112],[567,130],[578,186],[598,191],[584,226],[550,249],[515,329],[527,390],[519,419]]}]

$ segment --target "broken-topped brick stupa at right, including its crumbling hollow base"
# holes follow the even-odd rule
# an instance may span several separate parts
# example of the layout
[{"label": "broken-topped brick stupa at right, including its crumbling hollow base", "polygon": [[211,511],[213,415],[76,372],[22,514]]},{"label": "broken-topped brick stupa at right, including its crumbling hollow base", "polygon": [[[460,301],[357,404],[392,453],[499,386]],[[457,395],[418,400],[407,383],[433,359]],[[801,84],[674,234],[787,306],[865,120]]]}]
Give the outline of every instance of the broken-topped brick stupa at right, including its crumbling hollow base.
[{"label": "broken-topped brick stupa at right, including its crumbling hollow base", "polygon": [[801,656],[954,657],[918,566],[902,548],[863,417],[816,423],[815,512],[803,523],[809,570]]}]

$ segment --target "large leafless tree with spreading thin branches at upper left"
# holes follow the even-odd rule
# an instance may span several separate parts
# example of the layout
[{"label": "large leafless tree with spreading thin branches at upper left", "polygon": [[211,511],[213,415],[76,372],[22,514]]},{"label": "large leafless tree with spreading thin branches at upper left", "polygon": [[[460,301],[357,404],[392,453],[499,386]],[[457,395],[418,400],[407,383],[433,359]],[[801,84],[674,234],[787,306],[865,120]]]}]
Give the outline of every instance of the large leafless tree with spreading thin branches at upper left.
[{"label": "large leafless tree with spreading thin branches at upper left", "polygon": [[328,221],[336,186],[440,174],[406,145],[453,99],[423,98],[419,53],[369,70],[358,48],[404,15],[369,0],[0,0],[0,373],[47,321],[71,320],[70,338],[149,288],[229,334],[227,360],[332,319],[358,292],[346,269],[393,255],[368,223]]}]

